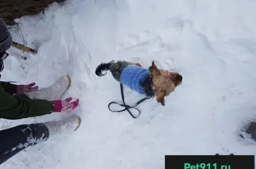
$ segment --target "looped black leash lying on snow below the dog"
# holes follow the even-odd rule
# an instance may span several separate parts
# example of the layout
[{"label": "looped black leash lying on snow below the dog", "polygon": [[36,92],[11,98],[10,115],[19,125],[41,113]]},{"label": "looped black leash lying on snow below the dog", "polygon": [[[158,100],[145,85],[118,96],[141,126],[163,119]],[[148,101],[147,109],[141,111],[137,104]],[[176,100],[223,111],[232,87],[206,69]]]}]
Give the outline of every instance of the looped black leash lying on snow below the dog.
[{"label": "looped black leash lying on snow below the dog", "polygon": [[[110,110],[109,106],[110,106],[111,104],[115,103],[115,104],[118,104],[118,105],[124,107],[124,109],[123,109],[123,110],[119,110],[119,111],[113,111],[113,110],[110,110],[110,111],[112,111],[112,112],[122,112],[122,111],[127,110],[127,111],[129,112],[129,114],[132,116],[132,118],[138,118],[138,117],[140,116],[140,110],[137,109],[136,106],[138,106],[138,104],[144,102],[144,101],[147,100],[148,98],[143,98],[143,99],[141,99],[139,102],[136,102],[136,105],[135,105],[135,106],[128,106],[128,105],[126,105],[125,102],[124,102],[124,89],[123,89],[123,84],[121,84],[121,83],[120,83],[120,90],[121,90],[121,96],[122,96],[122,100],[123,100],[123,103],[124,103],[124,104],[119,104],[119,103],[117,103],[117,102],[110,102],[110,103],[108,104],[108,109]],[[130,108],[134,108],[134,109],[138,110],[138,111],[139,111],[139,115],[138,115],[137,117],[135,117],[135,116],[130,112],[130,110],[129,110]]]}]

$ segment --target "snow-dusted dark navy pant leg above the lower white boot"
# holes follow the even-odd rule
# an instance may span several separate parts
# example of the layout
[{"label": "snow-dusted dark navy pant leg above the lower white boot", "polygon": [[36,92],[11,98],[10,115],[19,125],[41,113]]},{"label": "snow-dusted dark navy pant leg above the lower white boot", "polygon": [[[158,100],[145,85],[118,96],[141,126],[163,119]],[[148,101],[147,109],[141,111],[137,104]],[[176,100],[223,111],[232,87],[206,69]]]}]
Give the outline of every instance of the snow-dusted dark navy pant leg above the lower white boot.
[{"label": "snow-dusted dark navy pant leg above the lower white boot", "polygon": [[21,150],[46,141],[49,131],[42,123],[20,125],[0,131],[0,165]]}]

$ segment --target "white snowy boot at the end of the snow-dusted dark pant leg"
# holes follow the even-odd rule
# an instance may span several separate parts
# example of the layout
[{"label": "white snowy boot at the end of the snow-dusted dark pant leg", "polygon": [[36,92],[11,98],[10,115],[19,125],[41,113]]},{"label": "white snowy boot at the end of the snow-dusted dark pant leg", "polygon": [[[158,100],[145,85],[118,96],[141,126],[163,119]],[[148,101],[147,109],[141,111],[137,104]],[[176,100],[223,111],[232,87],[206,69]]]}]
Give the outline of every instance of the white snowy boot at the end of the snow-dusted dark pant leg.
[{"label": "white snowy boot at the end of the snow-dusted dark pant leg", "polygon": [[76,131],[81,124],[81,119],[78,116],[72,116],[70,118],[58,121],[44,122],[49,130],[49,137],[62,133],[72,133]]}]

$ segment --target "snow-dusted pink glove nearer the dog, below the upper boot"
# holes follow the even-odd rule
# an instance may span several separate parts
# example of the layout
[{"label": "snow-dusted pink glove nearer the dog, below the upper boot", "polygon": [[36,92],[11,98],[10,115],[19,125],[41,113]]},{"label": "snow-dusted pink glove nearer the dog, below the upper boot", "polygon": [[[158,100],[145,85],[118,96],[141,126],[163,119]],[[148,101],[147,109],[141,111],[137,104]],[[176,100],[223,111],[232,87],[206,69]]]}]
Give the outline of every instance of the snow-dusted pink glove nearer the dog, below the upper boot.
[{"label": "snow-dusted pink glove nearer the dog, below the upper boot", "polygon": [[[72,99],[74,99],[72,101]],[[54,100],[54,112],[70,112],[74,110],[79,103],[77,98],[66,98],[65,100]]]}]

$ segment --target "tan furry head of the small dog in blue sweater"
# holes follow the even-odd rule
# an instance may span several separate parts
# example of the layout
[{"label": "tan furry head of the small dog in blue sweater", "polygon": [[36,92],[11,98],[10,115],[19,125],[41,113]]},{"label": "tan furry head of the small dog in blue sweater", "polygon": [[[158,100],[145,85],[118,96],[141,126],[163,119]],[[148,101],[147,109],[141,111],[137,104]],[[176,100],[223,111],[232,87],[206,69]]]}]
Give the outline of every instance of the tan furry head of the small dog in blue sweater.
[{"label": "tan furry head of the small dog in blue sweater", "polygon": [[182,83],[182,76],[176,72],[158,69],[154,63],[148,69],[152,75],[153,90],[157,102],[165,106],[164,97],[172,93]]}]

